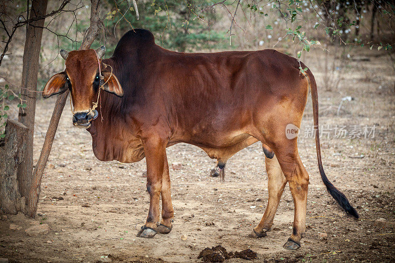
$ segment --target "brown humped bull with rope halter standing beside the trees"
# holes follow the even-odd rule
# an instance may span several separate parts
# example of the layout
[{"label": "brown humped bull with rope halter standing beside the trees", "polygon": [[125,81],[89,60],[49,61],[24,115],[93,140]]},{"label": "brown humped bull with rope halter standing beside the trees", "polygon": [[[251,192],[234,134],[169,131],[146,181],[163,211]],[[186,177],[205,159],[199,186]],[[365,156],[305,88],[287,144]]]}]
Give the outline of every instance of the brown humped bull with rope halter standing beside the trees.
[{"label": "brown humped bull with rope halter standing beside the trees", "polygon": [[[100,60],[104,51],[104,47],[62,50],[66,70],[51,77],[42,95],[46,98],[70,89],[74,125],[90,132],[99,160],[130,163],[146,157],[150,210],[137,236],[153,237],[172,228],[166,147],[192,144],[224,165],[237,151],[260,141],[266,155],[269,201],[249,236],[266,236],[288,183],[295,216],[284,248],[299,248],[306,229],[309,175],[298,154],[297,137],[287,139],[286,126],[300,127],[310,88],[318,127],[317,87],[311,71],[301,72],[303,63],[276,50],[173,52],[156,45],[152,33],[141,29],[126,33],[114,55]],[[100,92],[101,88],[107,92]],[[99,111],[92,109],[96,102]],[[356,210],[323,171],[318,134],[323,183],[357,218]]]}]

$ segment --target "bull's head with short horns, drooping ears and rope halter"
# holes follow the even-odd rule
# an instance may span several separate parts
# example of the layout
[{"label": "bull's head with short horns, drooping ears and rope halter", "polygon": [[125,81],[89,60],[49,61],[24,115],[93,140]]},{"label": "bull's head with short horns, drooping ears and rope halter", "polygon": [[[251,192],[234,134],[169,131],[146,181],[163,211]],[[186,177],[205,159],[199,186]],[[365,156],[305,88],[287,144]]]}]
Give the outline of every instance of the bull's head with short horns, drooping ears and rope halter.
[{"label": "bull's head with short horns, drooping ears and rope halter", "polygon": [[[104,46],[95,50],[60,50],[60,55],[66,60],[66,70],[53,75],[46,83],[42,97],[48,98],[70,89],[71,99],[74,105],[73,124],[80,128],[89,128],[91,121],[98,115],[92,111],[92,104],[97,102],[100,84],[103,89],[118,97],[123,96],[122,87],[110,67],[105,67],[101,60],[106,48]],[[96,56],[97,54],[97,56]],[[99,63],[101,63],[100,79]],[[102,82],[101,82],[102,81]]]}]

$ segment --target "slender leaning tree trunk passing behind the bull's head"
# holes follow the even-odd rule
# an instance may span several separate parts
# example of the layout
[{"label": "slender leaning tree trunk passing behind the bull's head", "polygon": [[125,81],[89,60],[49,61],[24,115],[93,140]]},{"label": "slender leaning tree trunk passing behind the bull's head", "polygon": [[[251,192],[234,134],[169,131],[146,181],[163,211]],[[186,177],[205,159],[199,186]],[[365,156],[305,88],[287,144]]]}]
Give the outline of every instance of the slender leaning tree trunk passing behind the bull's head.
[{"label": "slender leaning tree trunk passing behind the bull's head", "polygon": [[[101,21],[99,17],[99,2],[100,0],[91,0],[90,26],[85,33],[85,37],[83,38],[79,49],[88,49],[90,45],[93,43],[93,40],[99,35],[99,26],[101,25]],[[62,115],[63,108],[65,107],[68,94],[69,94],[69,90],[67,90],[63,94],[58,95],[55,108],[52,113],[51,121],[49,122],[48,130],[45,135],[45,140],[42,146],[40,158],[33,171],[33,181],[32,181],[32,186],[30,188],[29,199],[28,199],[29,217],[36,216],[42,173],[44,172],[44,168],[48,160],[49,153],[51,152],[53,139],[55,137],[56,129],[59,124],[59,119],[60,116]]]}]

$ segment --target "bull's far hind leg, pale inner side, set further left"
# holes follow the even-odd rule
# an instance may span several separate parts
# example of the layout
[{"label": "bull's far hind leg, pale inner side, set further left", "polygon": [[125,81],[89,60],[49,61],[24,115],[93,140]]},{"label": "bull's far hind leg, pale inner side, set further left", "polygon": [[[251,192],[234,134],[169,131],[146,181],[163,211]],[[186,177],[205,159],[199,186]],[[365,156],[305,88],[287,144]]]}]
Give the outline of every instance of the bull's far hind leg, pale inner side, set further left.
[{"label": "bull's far hind leg, pale inner side, set further left", "polygon": [[[266,154],[265,154],[266,155]],[[273,220],[276,215],[278,203],[280,201],[282,192],[287,183],[284,174],[281,171],[280,165],[276,156],[268,158],[265,156],[266,171],[268,173],[268,190],[269,200],[262,220],[253,231],[249,234],[250,237],[264,237],[266,232],[270,230],[273,225]]]}]

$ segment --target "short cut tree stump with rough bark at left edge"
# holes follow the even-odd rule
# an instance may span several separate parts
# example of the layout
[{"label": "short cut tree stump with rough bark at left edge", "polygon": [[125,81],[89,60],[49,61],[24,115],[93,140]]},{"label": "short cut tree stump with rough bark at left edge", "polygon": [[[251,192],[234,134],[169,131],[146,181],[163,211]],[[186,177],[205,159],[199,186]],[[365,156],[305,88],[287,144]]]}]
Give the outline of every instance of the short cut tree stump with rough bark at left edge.
[{"label": "short cut tree stump with rough bark at left edge", "polygon": [[19,192],[16,171],[26,150],[27,134],[25,125],[7,120],[5,138],[0,141],[0,207],[6,214],[25,212],[25,197]]}]

